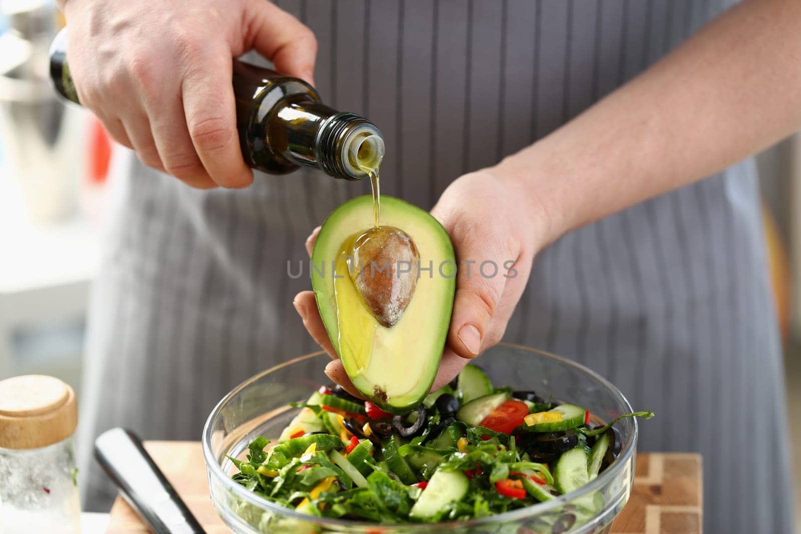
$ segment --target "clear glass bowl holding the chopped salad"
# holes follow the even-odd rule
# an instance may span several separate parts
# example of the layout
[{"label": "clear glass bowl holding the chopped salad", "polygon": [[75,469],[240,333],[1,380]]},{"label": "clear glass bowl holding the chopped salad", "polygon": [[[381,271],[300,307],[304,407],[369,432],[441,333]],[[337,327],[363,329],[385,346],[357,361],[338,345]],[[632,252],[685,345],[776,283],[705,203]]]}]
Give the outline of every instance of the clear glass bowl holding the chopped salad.
[{"label": "clear glass bowl holding the chopped salad", "polygon": [[[469,521],[375,524],[312,517],[264,500],[231,480],[236,469],[227,456],[244,459],[248,444],[258,436],[276,441],[300,410],[288,403],[304,402],[321,384],[330,382],[323,372],[326,363],[328,356],[315,352],[276,365],[235,387],[208,417],[203,428],[203,457],[211,502],[233,532],[609,532],[612,521],[629,499],[638,433],[634,418],[615,424],[622,440],[620,453],[589,484],[528,508]],[[493,384],[553,395],[553,399],[588,408],[598,421],[631,412],[626,398],[606,379],[556,355],[501,343],[477,363]]]}]

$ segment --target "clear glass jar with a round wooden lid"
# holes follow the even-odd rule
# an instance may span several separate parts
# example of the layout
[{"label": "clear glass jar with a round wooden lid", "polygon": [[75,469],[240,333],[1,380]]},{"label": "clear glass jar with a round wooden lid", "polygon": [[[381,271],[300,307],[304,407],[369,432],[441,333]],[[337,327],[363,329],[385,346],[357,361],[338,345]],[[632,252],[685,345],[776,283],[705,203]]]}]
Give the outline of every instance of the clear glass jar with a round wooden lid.
[{"label": "clear glass jar with a round wooden lid", "polygon": [[81,532],[72,388],[44,375],[0,381],[0,532]]}]

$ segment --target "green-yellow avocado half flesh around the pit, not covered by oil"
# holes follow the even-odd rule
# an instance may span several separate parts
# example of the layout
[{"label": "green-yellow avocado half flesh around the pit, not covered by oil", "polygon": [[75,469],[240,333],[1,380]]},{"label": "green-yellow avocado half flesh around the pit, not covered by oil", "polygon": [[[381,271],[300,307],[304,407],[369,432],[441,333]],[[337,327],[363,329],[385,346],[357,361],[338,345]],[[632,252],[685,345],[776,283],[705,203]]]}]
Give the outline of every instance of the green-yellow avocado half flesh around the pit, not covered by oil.
[{"label": "green-yellow avocado half flesh around the pit, not covered by oil", "polygon": [[[340,248],[344,241],[357,232],[366,230],[371,224],[372,197],[364,195],[351,199],[328,215],[320,228],[312,251],[310,269],[317,309],[320,311],[320,317],[323,319],[328,337],[332,341],[336,354],[342,359],[346,371],[354,367],[355,363],[351,365],[352,355],[340,346],[339,311],[336,307],[332,266],[340,254]],[[364,375],[354,377],[348,371],[348,376],[364,396],[385,412],[403,415],[421,404],[425,395],[429,394],[437,375],[453,311],[457,263],[448,232],[427,211],[404,200],[381,195],[381,224],[398,227],[409,234],[420,251],[421,263],[427,267],[431,260],[434,265],[434,274],[425,281],[427,285],[422,288],[421,280],[426,274],[422,274],[421,271],[412,296],[412,303],[409,304],[404,314],[425,314],[425,317],[410,318],[418,319],[415,323],[424,326],[412,330],[408,325],[404,326],[404,316],[391,328],[380,327],[380,335],[386,336],[387,339],[395,339],[395,336],[401,339],[405,360],[404,368],[405,371],[408,371],[404,375],[406,380],[413,380],[413,387],[404,395],[394,398],[389,395],[384,398],[384,395],[376,393],[381,391],[380,387],[376,387],[378,384],[372,383]],[[444,271],[450,275],[443,276],[437,272],[440,264],[445,266]],[[452,270],[449,271],[449,269]],[[413,307],[415,299],[428,299],[430,302]],[[364,306],[364,303],[360,303],[360,305]],[[345,313],[345,311],[343,312]],[[411,322],[408,321],[408,323]],[[371,365],[380,365],[380,363],[372,363],[375,359],[371,359]],[[372,369],[370,375],[381,376],[381,371],[380,367],[377,370]],[[391,385],[392,375],[396,373],[383,374],[383,383]]]}]

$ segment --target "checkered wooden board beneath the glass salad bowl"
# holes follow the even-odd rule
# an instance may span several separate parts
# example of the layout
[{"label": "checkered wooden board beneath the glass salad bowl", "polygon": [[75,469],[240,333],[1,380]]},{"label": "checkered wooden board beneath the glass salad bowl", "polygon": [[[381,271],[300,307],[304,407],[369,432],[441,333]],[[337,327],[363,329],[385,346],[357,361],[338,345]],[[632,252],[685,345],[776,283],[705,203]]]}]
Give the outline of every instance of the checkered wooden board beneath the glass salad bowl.
[{"label": "checkered wooden board beneath the glass salad bowl", "polygon": [[[147,452],[209,534],[229,532],[211,506],[203,452],[195,441],[148,441]],[[637,456],[629,503],[613,534],[692,534],[702,528],[701,456],[650,453]],[[150,532],[121,498],[111,508],[109,534]]]}]

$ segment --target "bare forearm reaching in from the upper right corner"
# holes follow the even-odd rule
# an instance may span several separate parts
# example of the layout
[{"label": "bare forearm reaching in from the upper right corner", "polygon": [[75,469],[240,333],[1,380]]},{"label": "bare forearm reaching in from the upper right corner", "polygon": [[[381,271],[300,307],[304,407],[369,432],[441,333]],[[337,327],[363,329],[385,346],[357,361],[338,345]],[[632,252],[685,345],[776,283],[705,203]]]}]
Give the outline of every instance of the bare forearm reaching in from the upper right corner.
[{"label": "bare forearm reaching in from the upper right corner", "polygon": [[801,2],[746,2],[489,171],[545,212],[548,242],[721,171],[799,126]]}]

